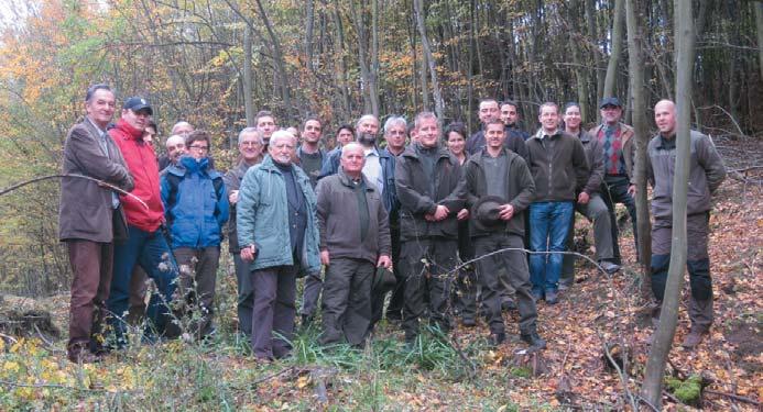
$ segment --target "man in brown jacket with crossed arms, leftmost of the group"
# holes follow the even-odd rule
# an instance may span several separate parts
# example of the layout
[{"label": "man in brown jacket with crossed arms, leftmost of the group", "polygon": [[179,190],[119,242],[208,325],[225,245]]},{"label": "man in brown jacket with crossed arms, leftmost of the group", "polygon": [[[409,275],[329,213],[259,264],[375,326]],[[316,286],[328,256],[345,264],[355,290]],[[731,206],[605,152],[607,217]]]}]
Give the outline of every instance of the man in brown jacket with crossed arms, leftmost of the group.
[{"label": "man in brown jacket with crossed arms, leftmost of the group", "polygon": [[[91,177],[130,191],[132,176],[119,148],[106,133],[115,101],[108,86],[88,88],[87,115],[66,136],[63,174]],[[62,179],[58,237],[66,242],[74,274],[67,344],[72,361],[97,361],[103,353],[98,335],[109,296],[113,241],[126,235],[124,214],[113,190],[89,179],[70,176]]]}]

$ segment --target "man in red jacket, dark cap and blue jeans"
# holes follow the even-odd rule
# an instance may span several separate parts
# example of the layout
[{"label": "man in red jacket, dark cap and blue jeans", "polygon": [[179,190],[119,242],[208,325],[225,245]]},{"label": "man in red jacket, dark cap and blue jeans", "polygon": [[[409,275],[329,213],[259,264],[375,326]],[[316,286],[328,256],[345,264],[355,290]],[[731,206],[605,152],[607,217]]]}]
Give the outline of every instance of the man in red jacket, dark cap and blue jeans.
[{"label": "man in red jacket, dark cap and blue jeans", "polygon": [[161,294],[153,296],[148,308],[148,318],[159,333],[164,332],[168,313],[166,303],[175,292],[174,280],[178,272],[161,232],[164,207],[159,189],[156,154],[153,146],[143,141],[143,132],[152,114],[153,109],[148,100],[129,98],[122,107],[122,116],[109,130],[135,182],[132,196],[120,196],[127,216],[128,240],[115,245],[113,277],[107,301],[111,313],[109,324],[115,330],[117,347],[126,344],[123,316],[130,303],[130,280],[135,265],[140,265],[154,280]]}]

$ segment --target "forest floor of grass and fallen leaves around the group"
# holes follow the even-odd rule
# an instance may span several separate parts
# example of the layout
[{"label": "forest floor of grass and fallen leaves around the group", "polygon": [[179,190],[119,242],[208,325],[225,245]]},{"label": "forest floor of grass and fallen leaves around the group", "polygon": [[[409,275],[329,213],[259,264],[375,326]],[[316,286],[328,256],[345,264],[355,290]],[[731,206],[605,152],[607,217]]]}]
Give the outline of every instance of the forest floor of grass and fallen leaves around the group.
[{"label": "forest floor of grass and fallen leaves around the group", "polygon": [[[689,326],[687,281],[666,371],[682,379],[701,376],[707,386],[693,407],[667,390],[666,410],[761,408],[761,178],[760,172],[746,182],[729,178],[716,196],[710,221],[716,321],[697,350],[680,347]],[[539,303],[539,332],[548,347],[534,359],[517,355],[525,346],[517,337],[517,314],[509,312],[511,337],[498,349],[488,345],[484,322],[459,325],[447,338],[425,335],[413,352],[405,349],[399,325],[382,322],[364,350],[323,348],[316,331],[307,330],[295,339],[293,357],[259,364],[232,332],[236,282],[222,275],[230,266],[226,257],[218,279],[219,333],[205,344],[135,344],[103,363],[78,366],[66,360],[65,336],[43,332],[44,339],[20,338],[0,331],[0,410],[629,410],[652,329],[632,237],[621,243],[622,271],[607,277],[582,265],[559,304]],[[53,324],[66,330],[67,294],[7,296],[0,303],[6,315],[30,309],[48,311]],[[626,359],[622,374],[607,365],[604,347]]]}]

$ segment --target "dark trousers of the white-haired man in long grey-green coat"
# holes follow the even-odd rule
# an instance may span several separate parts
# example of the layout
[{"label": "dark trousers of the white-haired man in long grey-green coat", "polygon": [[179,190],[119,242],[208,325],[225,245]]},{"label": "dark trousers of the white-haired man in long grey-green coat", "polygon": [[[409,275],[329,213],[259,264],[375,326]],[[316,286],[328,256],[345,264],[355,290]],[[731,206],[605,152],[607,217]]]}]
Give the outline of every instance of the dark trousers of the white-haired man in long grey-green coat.
[{"label": "dark trousers of the white-haired man in long grey-green coat", "polygon": [[292,349],[297,266],[252,271],[252,352],[259,359],[282,358]]}]

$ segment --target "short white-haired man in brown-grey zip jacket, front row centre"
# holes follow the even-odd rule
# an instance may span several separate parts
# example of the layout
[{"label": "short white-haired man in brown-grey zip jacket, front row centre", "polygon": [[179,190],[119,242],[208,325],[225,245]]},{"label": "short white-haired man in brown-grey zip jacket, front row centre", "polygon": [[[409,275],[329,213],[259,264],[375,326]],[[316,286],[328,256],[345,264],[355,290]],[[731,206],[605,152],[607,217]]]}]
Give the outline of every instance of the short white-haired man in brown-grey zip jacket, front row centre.
[{"label": "short white-haired man in brown-grey zip jacket, front row centre", "polygon": [[363,176],[366,154],[357,143],[341,148],[339,171],[317,188],[320,263],[326,265],[320,343],[361,345],[371,322],[377,267],[392,266],[386,210]]}]

